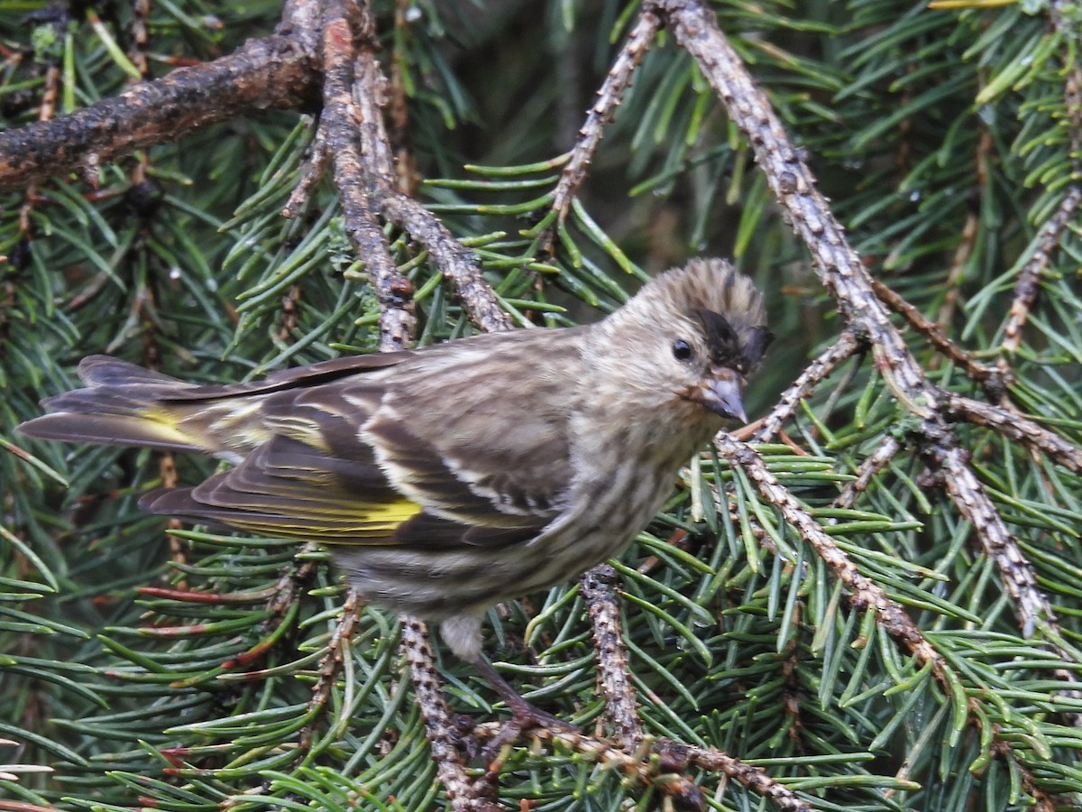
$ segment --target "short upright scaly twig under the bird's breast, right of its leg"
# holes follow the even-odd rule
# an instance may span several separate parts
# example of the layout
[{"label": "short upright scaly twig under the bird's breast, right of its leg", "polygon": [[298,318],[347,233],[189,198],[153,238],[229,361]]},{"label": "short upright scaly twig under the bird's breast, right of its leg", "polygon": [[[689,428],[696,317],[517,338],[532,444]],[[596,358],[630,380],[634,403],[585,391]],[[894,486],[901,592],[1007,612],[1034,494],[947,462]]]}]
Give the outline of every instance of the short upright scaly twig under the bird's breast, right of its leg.
[{"label": "short upright scaly twig under the bird's breast, right of its leg", "polygon": [[605,696],[606,715],[612,722],[612,735],[625,750],[643,742],[643,721],[638,718],[635,689],[629,679],[628,647],[623,644],[620,606],[612,585],[616,569],[601,564],[582,576],[582,598],[594,626],[597,649],[597,682]]}]

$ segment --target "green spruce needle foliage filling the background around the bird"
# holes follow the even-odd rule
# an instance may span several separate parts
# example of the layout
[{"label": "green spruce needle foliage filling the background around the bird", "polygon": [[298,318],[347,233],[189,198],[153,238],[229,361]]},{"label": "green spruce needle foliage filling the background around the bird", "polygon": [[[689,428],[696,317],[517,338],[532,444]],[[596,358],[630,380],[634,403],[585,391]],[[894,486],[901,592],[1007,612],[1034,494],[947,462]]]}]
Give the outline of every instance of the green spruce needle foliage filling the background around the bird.
[{"label": "green spruce needle foliage filling the background around the bird", "polygon": [[[14,173],[0,175],[0,809],[1082,804],[1082,11],[381,0],[357,23],[348,3],[293,0],[287,13],[331,19],[338,5],[355,31],[374,28],[395,188],[470,249],[505,315],[478,315],[440,264],[446,245],[381,208],[387,179],[366,189],[369,222],[411,296],[372,285],[341,153],[291,198],[316,176],[318,88],[315,102],[179,123],[179,137],[40,180],[17,180],[0,141]],[[682,41],[677,15],[700,5],[882,284],[874,299],[935,403],[893,377],[861,311],[871,296],[846,300],[831,281],[837,269],[779,204],[790,180],[770,175]],[[559,217],[579,128],[644,8],[662,29],[634,54]],[[211,64],[270,37],[282,13],[6,5],[4,127]],[[164,528],[136,507],[212,461],[12,433],[77,385],[91,353],[246,380],[385,348],[396,309],[412,307],[415,344],[497,316],[597,318],[696,254],[731,258],[768,293],[778,339],[749,414],[775,410],[802,374],[814,392],[793,400],[783,434],[741,435],[758,458],[723,443],[689,462],[612,562],[611,600],[571,581],[490,613],[499,670],[584,737],[520,739],[487,783],[460,745],[490,735],[494,695],[437,651],[451,711],[480,728],[445,731],[457,762],[430,746],[412,631],[407,656],[395,618],[355,607],[321,549]],[[616,607],[622,654],[598,606]],[[620,656],[645,742],[597,685]],[[686,758],[650,756],[664,739]],[[739,762],[711,761],[718,751]],[[476,797],[457,794],[456,770]]]}]

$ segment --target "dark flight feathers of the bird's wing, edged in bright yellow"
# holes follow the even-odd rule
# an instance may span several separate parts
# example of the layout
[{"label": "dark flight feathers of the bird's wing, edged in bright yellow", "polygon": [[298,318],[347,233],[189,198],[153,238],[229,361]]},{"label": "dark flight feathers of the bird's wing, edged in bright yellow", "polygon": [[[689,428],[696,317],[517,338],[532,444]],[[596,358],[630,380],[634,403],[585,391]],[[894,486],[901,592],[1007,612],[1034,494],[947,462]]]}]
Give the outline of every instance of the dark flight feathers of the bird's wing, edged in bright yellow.
[{"label": "dark flight feathers of the bird's wing, edged in bright yellow", "polygon": [[[412,435],[408,451],[396,449],[399,462],[408,454],[411,466],[407,496],[388,481],[356,422],[327,408],[332,396],[299,394],[307,403],[294,404],[280,421],[267,415],[269,438],[238,466],[193,488],[153,492],[143,506],[266,536],[414,548],[526,541],[554,515],[552,510],[506,514]],[[316,398],[324,403],[314,405]],[[282,401],[276,398],[275,406],[285,410]],[[436,501],[438,514],[426,509]]]}]

